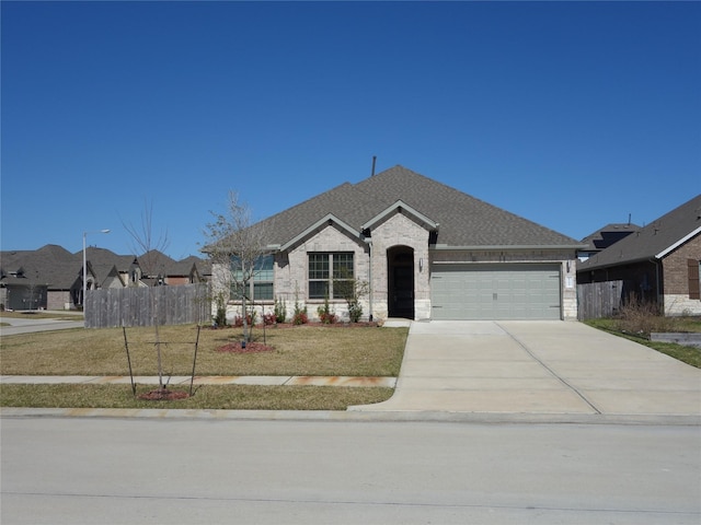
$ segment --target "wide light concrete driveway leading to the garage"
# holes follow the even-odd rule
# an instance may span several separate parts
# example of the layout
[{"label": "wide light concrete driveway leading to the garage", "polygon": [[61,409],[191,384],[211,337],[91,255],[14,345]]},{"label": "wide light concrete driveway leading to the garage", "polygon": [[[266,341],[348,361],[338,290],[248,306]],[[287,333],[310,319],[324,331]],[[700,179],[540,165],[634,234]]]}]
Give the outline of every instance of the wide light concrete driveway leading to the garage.
[{"label": "wide light concrete driveway leading to the garage", "polygon": [[701,370],[576,322],[415,322],[394,396],[350,410],[698,424]]}]

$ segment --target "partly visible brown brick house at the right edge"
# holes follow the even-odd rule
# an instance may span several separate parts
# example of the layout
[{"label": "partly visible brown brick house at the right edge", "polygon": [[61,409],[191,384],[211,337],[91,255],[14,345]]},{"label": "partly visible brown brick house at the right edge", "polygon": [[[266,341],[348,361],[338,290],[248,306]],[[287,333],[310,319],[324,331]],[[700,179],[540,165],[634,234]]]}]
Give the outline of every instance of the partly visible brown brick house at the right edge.
[{"label": "partly visible brown brick house at the right edge", "polygon": [[701,314],[701,195],[594,255],[577,282],[623,281],[623,299],[659,305],[665,315]]}]

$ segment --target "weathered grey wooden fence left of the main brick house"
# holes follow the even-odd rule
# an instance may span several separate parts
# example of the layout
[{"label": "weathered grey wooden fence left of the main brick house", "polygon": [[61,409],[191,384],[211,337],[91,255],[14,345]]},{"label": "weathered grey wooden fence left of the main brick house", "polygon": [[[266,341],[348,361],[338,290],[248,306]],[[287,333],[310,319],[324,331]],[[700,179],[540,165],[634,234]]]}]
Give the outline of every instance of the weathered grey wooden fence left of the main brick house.
[{"label": "weathered grey wooden fence left of the main brick house", "polygon": [[177,287],[108,288],[85,295],[85,328],[209,323],[210,300],[206,283]]}]

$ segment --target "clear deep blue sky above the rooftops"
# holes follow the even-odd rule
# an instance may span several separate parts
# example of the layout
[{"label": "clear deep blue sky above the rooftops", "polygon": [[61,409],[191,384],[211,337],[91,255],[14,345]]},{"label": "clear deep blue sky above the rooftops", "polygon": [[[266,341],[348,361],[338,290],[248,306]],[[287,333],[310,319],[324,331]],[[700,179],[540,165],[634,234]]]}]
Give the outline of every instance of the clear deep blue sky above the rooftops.
[{"label": "clear deep blue sky above the rooftops", "polygon": [[701,192],[699,2],[11,2],[2,249],[198,254],[401,164],[576,240]]}]

